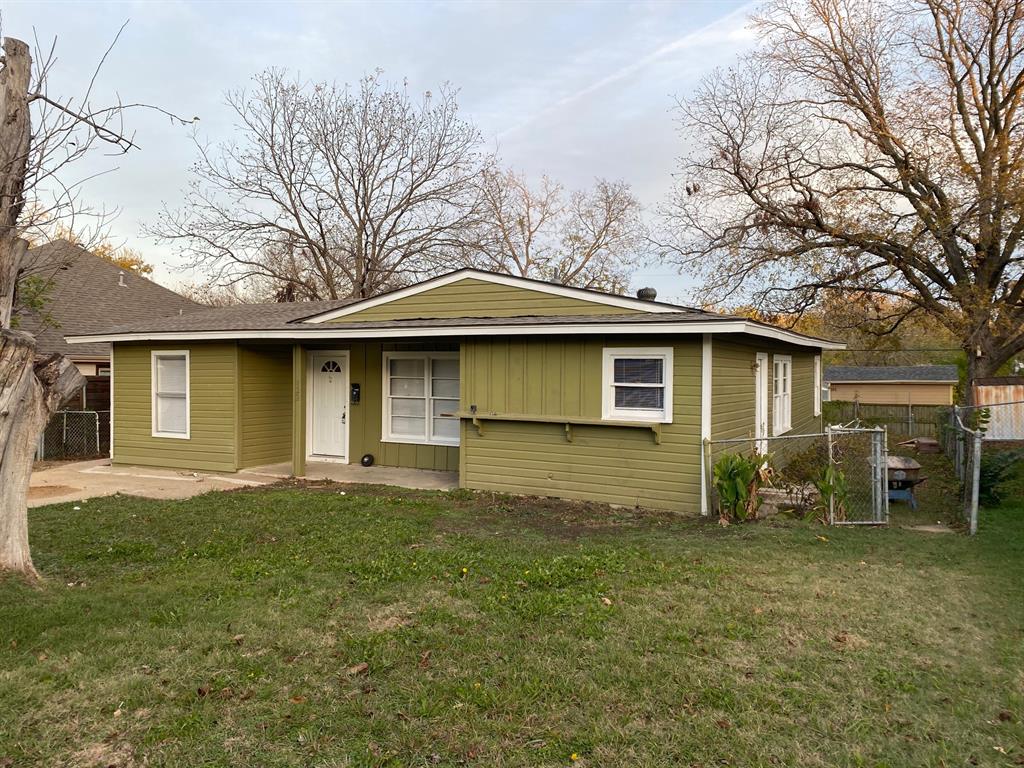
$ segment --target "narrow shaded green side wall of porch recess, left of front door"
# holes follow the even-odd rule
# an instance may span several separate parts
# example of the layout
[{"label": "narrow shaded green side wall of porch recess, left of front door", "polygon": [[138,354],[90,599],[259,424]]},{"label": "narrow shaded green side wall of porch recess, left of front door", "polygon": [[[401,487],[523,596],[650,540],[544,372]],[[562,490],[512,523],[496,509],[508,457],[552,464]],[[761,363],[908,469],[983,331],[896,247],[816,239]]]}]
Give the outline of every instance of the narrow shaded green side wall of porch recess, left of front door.
[{"label": "narrow shaded green side wall of porch recess, left of front door", "polygon": [[240,466],[292,459],[292,347],[240,346]]}]

